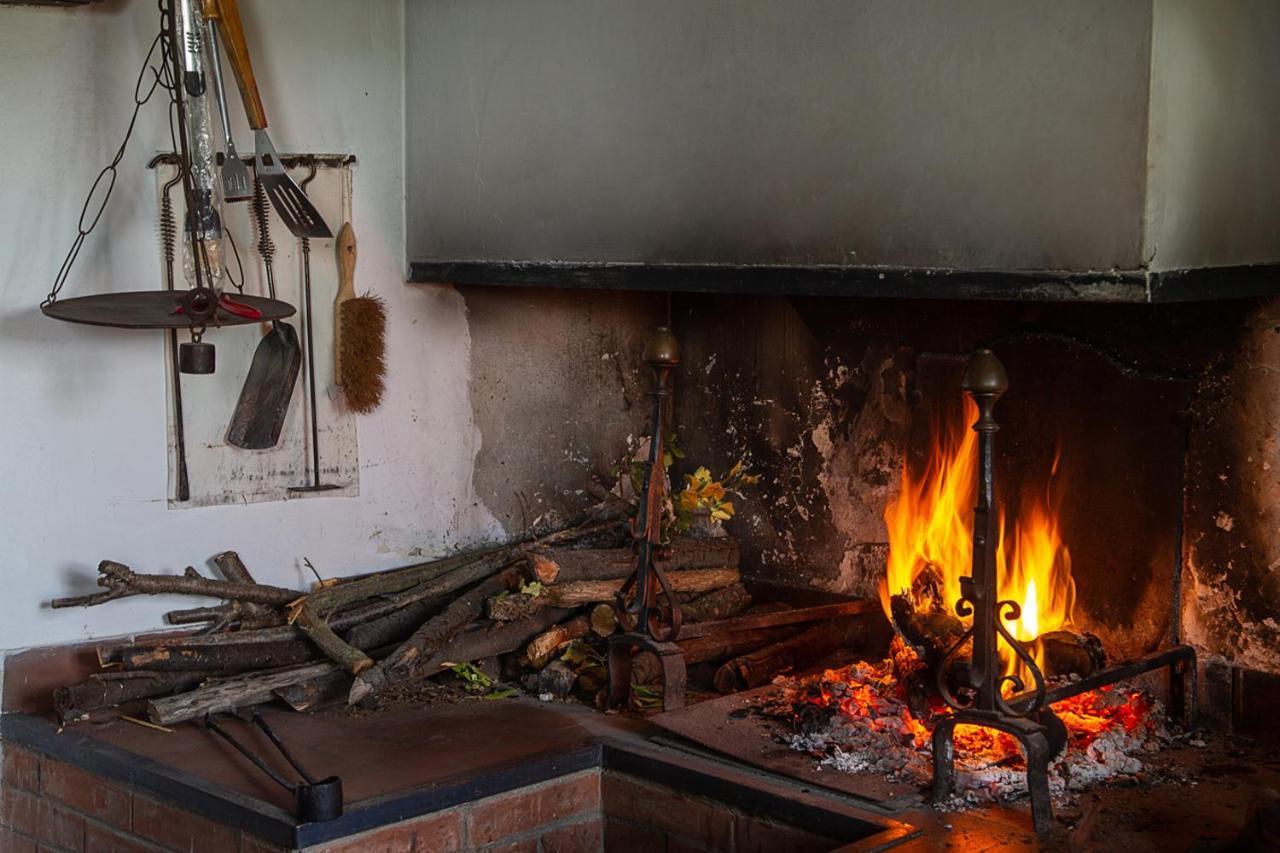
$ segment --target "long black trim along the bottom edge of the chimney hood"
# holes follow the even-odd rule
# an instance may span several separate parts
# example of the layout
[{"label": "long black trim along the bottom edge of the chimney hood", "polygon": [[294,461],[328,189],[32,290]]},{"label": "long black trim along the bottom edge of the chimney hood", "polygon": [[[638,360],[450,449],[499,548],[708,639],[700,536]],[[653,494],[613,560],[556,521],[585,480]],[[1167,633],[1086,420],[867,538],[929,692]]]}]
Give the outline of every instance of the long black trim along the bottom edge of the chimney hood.
[{"label": "long black trim along the bottom edge of the chimney hood", "polygon": [[1280,264],[1156,273],[1080,273],[901,266],[412,261],[408,280],[673,293],[1140,304],[1277,295]]}]

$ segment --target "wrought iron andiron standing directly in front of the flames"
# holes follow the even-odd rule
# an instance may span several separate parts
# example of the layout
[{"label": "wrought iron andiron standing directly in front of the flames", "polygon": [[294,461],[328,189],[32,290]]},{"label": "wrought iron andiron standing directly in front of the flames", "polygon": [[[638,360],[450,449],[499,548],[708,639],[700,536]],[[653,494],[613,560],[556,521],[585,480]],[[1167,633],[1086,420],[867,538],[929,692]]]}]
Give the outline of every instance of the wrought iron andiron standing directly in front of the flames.
[{"label": "wrought iron andiron standing directly in front of the flames", "polygon": [[[972,615],[973,626],[947,651],[936,672],[938,692],[955,713],[945,717],[933,730],[933,802],[946,799],[955,788],[955,727],[977,725],[996,729],[1023,744],[1032,822],[1037,833],[1046,833],[1053,820],[1048,798],[1048,762],[1065,747],[1066,727],[1046,703],[1044,675],[1036,666],[1036,660],[1004,625],[1019,619],[1021,607],[1014,601],[997,601],[993,460],[1000,425],[993,411],[996,401],[1009,389],[1009,378],[991,350],[978,350],[969,360],[963,384],[978,403],[978,420],[973,425],[978,433],[978,502],[973,516],[973,570],[970,576],[960,579],[956,613],[961,617]],[[1020,694],[1025,685],[1016,675],[1002,675],[997,648],[1000,638],[1027,666],[1034,681],[1034,689],[1014,704],[1006,702],[1001,689],[1009,684],[1014,694]],[[952,692],[947,684],[948,662],[970,639],[973,662],[964,684],[966,689]]]}]

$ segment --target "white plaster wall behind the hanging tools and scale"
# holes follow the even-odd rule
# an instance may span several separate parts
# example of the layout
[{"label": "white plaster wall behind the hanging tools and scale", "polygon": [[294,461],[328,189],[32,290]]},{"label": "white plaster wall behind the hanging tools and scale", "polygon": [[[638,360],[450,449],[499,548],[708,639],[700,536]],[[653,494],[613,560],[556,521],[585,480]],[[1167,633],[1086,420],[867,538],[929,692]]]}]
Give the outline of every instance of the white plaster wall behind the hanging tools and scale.
[{"label": "white plaster wall behind the hanging tools and scale", "polygon": [[[406,286],[403,4],[242,0],[276,149],[351,151],[357,280],[389,305],[390,377],[360,423],[361,496],[165,507],[163,337],[45,319],[37,304],[81,200],[128,119],[152,0],[0,8],[0,649],[160,624],[175,599],[51,611],[99,560],[178,573],[238,549],[265,583],[402,564],[497,532],[471,488],[479,434],[462,298]],[[165,106],[145,109],[110,209],[65,296],[154,286],[154,186]],[[251,147],[242,124],[241,146]],[[211,339],[216,343],[216,333]]]}]

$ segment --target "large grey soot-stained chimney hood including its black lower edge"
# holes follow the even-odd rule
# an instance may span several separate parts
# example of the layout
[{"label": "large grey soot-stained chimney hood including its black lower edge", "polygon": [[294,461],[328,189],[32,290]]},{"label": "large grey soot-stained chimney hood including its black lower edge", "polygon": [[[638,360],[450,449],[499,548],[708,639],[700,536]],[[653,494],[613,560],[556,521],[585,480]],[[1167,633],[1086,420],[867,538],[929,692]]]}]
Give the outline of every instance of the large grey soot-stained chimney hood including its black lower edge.
[{"label": "large grey soot-stained chimney hood including its black lower edge", "polygon": [[406,6],[410,278],[1280,292],[1280,5]]}]

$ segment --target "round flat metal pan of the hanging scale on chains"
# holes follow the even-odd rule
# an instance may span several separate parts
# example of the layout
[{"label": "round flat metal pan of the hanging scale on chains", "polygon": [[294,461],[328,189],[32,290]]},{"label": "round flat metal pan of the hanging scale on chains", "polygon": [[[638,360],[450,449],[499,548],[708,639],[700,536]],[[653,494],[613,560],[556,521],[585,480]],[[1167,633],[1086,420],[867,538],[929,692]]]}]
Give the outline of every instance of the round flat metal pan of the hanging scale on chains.
[{"label": "round flat metal pan of the hanging scale on chains", "polygon": [[[128,293],[99,293],[78,296],[70,300],[58,300],[42,305],[45,316],[68,323],[87,325],[109,325],[118,329],[186,329],[191,316],[180,311],[186,291],[132,291]],[[261,316],[246,318],[232,314],[219,306],[218,313],[207,320],[207,325],[246,325],[266,323],[293,316],[296,309],[282,300],[269,300],[264,296],[243,296],[236,293],[237,302],[256,309]]]}]

